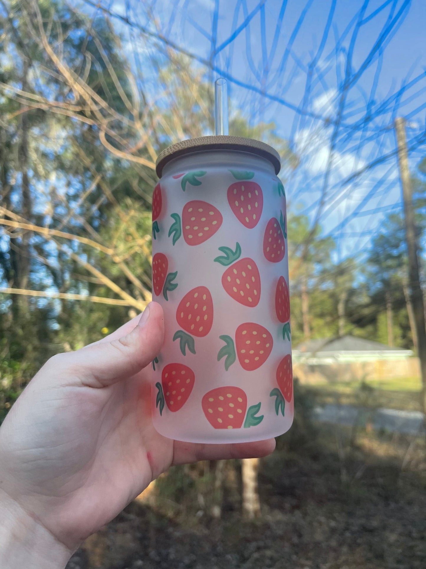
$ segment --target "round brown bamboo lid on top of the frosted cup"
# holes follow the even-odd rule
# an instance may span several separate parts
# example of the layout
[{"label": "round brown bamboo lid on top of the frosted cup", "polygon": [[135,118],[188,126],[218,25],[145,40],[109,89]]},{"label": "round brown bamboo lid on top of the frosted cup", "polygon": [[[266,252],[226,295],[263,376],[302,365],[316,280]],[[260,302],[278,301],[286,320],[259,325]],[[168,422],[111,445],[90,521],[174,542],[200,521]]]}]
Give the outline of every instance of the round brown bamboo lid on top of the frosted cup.
[{"label": "round brown bamboo lid on top of the frosted cup", "polygon": [[240,150],[251,152],[257,156],[262,156],[272,163],[275,174],[281,170],[281,160],[279,154],[272,146],[265,142],[256,141],[253,138],[229,137],[229,136],[210,136],[189,138],[182,142],[169,146],[158,155],[156,162],[156,172],[161,178],[164,166],[178,156],[187,156],[191,152],[204,150]]}]

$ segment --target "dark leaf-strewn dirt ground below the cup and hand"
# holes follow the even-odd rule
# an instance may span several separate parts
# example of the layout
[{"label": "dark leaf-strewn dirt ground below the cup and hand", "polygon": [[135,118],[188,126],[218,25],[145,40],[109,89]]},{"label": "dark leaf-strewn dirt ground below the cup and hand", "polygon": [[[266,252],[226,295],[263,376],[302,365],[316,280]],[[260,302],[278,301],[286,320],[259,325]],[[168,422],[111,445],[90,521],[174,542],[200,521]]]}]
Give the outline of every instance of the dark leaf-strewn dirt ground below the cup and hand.
[{"label": "dark leaf-strewn dirt ground below the cup and hand", "polygon": [[424,569],[424,441],[367,432],[353,440],[337,428],[322,427],[297,452],[296,441],[279,442],[262,462],[256,521],[241,520],[235,485],[214,520],[200,486],[194,504],[194,485],[182,484],[188,471],[174,471],[166,480],[176,492],[163,484],[156,504],[133,502],[67,569]]}]

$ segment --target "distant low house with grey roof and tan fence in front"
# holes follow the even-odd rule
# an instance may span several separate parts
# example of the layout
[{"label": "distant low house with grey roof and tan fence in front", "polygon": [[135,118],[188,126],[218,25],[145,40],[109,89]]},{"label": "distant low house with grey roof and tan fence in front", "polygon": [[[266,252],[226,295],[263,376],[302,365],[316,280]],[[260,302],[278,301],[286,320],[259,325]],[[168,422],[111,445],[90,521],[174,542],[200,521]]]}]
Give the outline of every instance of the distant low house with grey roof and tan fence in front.
[{"label": "distant low house with grey roof and tan fence in front", "polygon": [[348,381],[361,377],[418,377],[412,350],[390,347],[355,336],[309,340],[293,349],[295,375],[301,381]]}]

